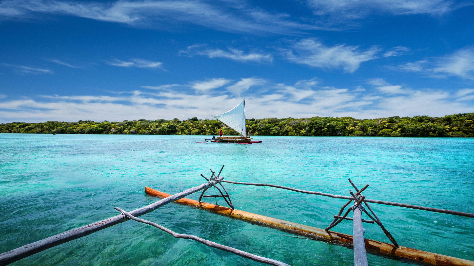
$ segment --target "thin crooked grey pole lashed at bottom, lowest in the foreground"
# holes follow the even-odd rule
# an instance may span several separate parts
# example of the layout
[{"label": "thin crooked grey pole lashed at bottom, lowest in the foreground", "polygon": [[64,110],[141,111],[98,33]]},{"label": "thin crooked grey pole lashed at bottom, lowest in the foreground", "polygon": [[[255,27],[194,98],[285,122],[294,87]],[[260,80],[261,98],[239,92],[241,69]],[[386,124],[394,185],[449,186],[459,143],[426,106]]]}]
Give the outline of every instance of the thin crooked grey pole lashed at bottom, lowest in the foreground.
[{"label": "thin crooked grey pole lashed at bottom, lowest in the foreground", "polygon": [[194,241],[201,242],[202,244],[204,244],[206,246],[209,246],[209,247],[212,247],[212,248],[217,248],[217,249],[220,249],[220,250],[224,250],[224,251],[227,251],[227,252],[230,252],[230,253],[234,253],[238,256],[246,257],[246,258],[249,258],[249,259],[261,262],[261,263],[265,263],[265,264],[270,264],[270,265],[274,265],[274,266],[290,266],[290,265],[288,265],[286,263],[283,263],[281,261],[278,261],[278,260],[274,260],[274,259],[267,258],[267,257],[260,257],[260,256],[257,256],[257,255],[254,255],[252,253],[248,253],[248,252],[239,250],[237,248],[224,246],[224,245],[218,244],[216,242],[212,242],[210,240],[200,238],[198,236],[188,235],[188,234],[178,234],[175,231],[172,231],[172,230],[170,230],[170,229],[168,229],[164,226],[161,226],[161,225],[159,225],[155,222],[150,222],[150,221],[147,221],[147,220],[137,218],[137,217],[131,215],[130,213],[127,213],[127,212],[123,211],[122,209],[120,209],[118,207],[115,207],[115,209],[117,211],[119,211],[120,213],[122,213],[123,215],[127,216],[128,218],[134,220],[134,221],[143,222],[143,223],[149,224],[151,226],[155,226],[159,230],[167,232],[168,234],[172,235],[174,238],[192,239]]}]

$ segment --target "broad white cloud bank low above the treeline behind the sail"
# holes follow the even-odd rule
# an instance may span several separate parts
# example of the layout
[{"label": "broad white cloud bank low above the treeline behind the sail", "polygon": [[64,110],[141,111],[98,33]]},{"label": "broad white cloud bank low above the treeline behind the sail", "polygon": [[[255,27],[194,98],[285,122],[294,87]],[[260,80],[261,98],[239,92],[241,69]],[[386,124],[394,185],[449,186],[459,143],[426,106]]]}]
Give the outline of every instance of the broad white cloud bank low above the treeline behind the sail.
[{"label": "broad white cloud bank low above the treeline behind the sail", "polygon": [[[219,79],[215,79],[219,80]],[[220,114],[241,98],[223,90],[222,93],[206,90],[225,86],[201,84],[201,93],[193,91],[134,90],[116,95],[43,95],[38,98],[0,99],[0,123],[24,121],[122,121],[124,119],[186,119],[197,116],[209,117]],[[242,81],[241,79],[240,81]],[[321,85],[321,80],[300,80],[293,85],[272,84],[267,81],[263,88],[246,91],[247,117],[311,117],[352,116],[377,118],[393,115],[448,115],[472,112],[474,89],[447,92],[436,89],[406,89],[403,85],[391,85],[385,80],[370,80],[375,90],[361,93],[360,87],[335,88]],[[202,82],[201,82],[202,83]],[[238,81],[237,81],[238,83]],[[197,86],[198,82],[195,83]],[[186,84],[182,84],[186,86]],[[392,93],[393,86],[402,93]],[[201,89],[200,88],[200,89]],[[245,89],[245,88],[244,88]],[[396,90],[396,89],[395,89]],[[387,93],[388,91],[388,93]]]}]

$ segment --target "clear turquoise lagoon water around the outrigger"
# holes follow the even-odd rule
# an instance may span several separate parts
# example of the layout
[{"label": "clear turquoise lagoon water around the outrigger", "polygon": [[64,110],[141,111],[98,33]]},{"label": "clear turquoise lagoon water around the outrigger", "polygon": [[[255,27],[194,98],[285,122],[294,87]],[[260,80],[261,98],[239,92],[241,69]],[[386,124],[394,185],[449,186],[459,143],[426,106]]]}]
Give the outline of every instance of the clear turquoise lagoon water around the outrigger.
[{"label": "clear turquoise lagoon water around the outrigger", "polygon": [[[261,144],[202,144],[203,136],[0,134],[0,253],[174,194],[226,165],[229,180],[364,195],[474,213],[474,139],[255,137]],[[276,188],[225,185],[237,209],[325,228],[345,200]],[[213,194],[213,191],[212,193]],[[197,199],[199,195],[191,195]],[[208,199],[208,202],[213,201]],[[225,204],[222,199],[220,204]],[[474,219],[372,204],[402,246],[474,260]],[[168,204],[141,218],[291,265],[353,265],[352,249]],[[366,218],[363,215],[363,218]],[[387,242],[377,225],[365,237]],[[352,222],[334,231],[352,234]],[[368,254],[370,265],[408,264]],[[261,265],[121,223],[13,265]]]}]

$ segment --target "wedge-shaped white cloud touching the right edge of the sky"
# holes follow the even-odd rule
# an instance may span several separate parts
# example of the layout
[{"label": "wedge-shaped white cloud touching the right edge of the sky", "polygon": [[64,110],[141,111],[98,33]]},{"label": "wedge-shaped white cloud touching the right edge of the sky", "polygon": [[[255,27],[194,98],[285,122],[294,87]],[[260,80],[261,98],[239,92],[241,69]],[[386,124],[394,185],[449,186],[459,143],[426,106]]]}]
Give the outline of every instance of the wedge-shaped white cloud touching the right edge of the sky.
[{"label": "wedge-shaped white cloud touching the right edge of the sky", "polygon": [[474,45],[466,46],[455,53],[441,57],[430,57],[417,62],[408,62],[391,69],[418,72],[431,77],[458,76],[474,79]]}]

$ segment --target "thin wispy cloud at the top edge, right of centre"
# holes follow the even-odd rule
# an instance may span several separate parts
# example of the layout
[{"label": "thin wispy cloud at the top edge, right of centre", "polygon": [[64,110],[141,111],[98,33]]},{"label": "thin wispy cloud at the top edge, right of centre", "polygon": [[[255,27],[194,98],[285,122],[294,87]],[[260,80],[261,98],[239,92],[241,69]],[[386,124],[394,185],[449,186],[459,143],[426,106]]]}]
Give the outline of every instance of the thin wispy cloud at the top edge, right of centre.
[{"label": "thin wispy cloud at the top edge, right of centre", "polygon": [[308,0],[308,4],[316,15],[351,19],[364,18],[371,13],[441,16],[462,6],[449,0]]}]

